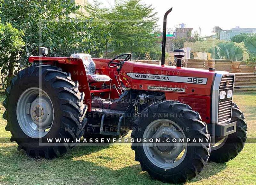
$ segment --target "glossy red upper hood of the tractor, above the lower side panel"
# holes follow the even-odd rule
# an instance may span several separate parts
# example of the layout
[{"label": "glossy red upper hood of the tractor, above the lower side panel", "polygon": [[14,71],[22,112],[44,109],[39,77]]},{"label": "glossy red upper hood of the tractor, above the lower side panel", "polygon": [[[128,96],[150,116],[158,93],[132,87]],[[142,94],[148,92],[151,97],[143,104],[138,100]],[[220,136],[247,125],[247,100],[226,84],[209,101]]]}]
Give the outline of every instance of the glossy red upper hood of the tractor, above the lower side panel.
[{"label": "glossy red upper hood of the tractor, above the lower side panel", "polygon": [[140,62],[125,62],[120,73],[127,87],[140,90],[164,91],[211,96],[216,74],[225,71],[209,71],[194,68],[164,66]]}]

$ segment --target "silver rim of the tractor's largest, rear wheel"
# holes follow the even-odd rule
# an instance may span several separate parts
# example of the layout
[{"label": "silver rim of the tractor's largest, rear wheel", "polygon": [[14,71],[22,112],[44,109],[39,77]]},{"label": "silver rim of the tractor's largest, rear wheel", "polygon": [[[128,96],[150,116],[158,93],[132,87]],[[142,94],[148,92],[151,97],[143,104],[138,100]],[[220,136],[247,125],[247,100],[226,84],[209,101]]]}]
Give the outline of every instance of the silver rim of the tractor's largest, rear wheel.
[{"label": "silver rim of the tractor's largest, rear wheel", "polygon": [[54,110],[50,97],[40,88],[26,89],[17,102],[17,120],[29,137],[44,137],[52,128]]}]

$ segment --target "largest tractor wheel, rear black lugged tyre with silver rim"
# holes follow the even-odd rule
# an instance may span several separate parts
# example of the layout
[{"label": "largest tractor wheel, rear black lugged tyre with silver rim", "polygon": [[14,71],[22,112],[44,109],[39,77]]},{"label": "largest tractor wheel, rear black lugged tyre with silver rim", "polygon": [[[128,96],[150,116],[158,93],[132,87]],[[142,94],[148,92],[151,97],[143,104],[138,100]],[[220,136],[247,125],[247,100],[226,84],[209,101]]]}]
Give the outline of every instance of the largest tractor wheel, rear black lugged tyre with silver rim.
[{"label": "largest tractor wheel, rear black lugged tyre with silver rim", "polygon": [[18,150],[23,149],[28,156],[55,158],[75,146],[46,146],[38,138],[75,141],[83,136],[87,106],[84,93],[79,92],[78,82],[71,80],[70,73],[55,66],[32,65],[18,72],[5,93],[5,129],[11,132],[11,141],[17,142]]}]

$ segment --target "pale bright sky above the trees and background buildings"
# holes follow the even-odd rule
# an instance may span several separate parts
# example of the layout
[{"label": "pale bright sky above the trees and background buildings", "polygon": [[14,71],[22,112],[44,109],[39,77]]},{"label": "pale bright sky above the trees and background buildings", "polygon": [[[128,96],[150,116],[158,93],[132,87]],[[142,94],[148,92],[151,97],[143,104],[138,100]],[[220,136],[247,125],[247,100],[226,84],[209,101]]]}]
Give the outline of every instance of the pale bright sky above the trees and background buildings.
[{"label": "pale bright sky above the trees and background buildings", "polygon": [[[98,0],[106,7],[113,7],[115,0]],[[88,0],[89,3],[92,0]],[[231,29],[236,26],[241,28],[256,28],[255,5],[256,1],[231,1],[231,0],[142,0],[145,4],[152,4],[159,18],[158,25],[163,27],[164,13],[172,7],[172,12],[167,17],[167,28],[170,31],[181,23],[193,28],[193,32],[201,36],[212,35],[212,28],[219,26],[221,29]],[[173,31],[172,31],[173,32]]]}]

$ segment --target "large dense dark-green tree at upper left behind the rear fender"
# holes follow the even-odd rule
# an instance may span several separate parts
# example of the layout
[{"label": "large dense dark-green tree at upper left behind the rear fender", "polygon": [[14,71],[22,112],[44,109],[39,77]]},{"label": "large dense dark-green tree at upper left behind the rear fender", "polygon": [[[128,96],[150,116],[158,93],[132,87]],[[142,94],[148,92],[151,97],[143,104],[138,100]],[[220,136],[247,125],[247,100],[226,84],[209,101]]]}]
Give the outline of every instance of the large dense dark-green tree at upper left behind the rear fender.
[{"label": "large dense dark-green tree at upper left behind the rear fender", "polygon": [[97,53],[90,21],[68,17],[78,8],[73,0],[5,0],[2,21],[24,31],[26,52],[20,62],[24,64],[29,55],[36,56],[38,46],[50,48],[50,56],[70,56],[77,51]]}]

